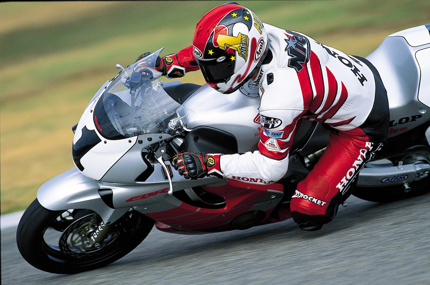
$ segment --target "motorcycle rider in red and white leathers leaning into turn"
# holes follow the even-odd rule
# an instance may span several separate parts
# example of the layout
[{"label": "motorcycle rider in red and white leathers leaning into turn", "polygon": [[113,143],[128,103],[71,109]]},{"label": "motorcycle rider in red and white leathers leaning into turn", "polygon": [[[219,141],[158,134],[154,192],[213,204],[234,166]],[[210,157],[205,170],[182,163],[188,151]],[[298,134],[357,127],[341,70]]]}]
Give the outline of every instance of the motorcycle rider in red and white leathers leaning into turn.
[{"label": "motorcycle rider in red and white leathers leaning into turn", "polygon": [[368,60],[262,23],[234,2],[207,12],[197,23],[193,45],[160,58],[156,66],[169,78],[200,69],[220,100],[241,86],[258,86],[258,151],[180,153],[172,165],[184,178],[270,184],[286,174],[302,119],[332,129],[326,150],[291,199],[292,218],[302,230],[319,230],[332,221],[359,171],[387,139],[387,92]]}]

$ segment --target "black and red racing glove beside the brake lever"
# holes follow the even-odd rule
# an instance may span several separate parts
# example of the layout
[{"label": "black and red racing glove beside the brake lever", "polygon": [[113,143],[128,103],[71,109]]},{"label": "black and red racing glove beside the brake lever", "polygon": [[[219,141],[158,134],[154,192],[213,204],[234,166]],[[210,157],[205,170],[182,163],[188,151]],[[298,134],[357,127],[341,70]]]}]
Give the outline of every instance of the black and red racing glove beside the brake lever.
[{"label": "black and red racing glove beside the brake lever", "polygon": [[221,154],[179,153],[173,156],[172,165],[185,179],[197,179],[205,176],[224,178],[219,167]]}]

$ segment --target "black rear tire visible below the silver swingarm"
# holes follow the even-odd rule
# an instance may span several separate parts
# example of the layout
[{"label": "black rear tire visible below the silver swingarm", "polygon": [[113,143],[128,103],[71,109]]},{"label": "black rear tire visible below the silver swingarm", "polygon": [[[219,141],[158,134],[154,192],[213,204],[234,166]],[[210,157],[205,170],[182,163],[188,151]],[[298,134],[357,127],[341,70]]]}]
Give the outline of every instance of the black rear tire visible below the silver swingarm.
[{"label": "black rear tire visible below the silver swingarm", "polygon": [[386,187],[357,187],[353,195],[371,202],[394,202],[430,192],[430,177],[409,183],[411,190],[405,192],[403,185]]}]

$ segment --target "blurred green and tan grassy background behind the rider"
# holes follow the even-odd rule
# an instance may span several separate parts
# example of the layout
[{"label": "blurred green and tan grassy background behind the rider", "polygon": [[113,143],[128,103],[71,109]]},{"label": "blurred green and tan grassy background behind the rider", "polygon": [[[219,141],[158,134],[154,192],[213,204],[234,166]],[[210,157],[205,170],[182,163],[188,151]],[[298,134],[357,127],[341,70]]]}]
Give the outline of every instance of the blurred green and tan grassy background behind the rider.
[{"label": "blurred green and tan grassy background behind the rider", "polygon": [[[225,2],[0,3],[1,214],[25,209],[41,184],[74,167],[71,126],[116,63],[189,46],[200,17]],[[430,22],[428,0],[238,2],[263,22],[360,56]],[[182,81],[204,83],[198,71]]]}]

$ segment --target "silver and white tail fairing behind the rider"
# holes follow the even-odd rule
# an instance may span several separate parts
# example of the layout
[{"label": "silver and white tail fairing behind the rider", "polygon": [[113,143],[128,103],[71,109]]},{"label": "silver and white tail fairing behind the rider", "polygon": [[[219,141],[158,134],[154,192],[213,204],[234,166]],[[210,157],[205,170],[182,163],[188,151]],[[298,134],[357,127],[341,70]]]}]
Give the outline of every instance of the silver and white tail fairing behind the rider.
[{"label": "silver and white tail fairing behind the rider", "polygon": [[386,37],[366,58],[387,89],[388,137],[430,120],[430,34],[424,25]]}]

